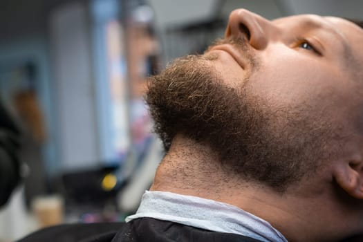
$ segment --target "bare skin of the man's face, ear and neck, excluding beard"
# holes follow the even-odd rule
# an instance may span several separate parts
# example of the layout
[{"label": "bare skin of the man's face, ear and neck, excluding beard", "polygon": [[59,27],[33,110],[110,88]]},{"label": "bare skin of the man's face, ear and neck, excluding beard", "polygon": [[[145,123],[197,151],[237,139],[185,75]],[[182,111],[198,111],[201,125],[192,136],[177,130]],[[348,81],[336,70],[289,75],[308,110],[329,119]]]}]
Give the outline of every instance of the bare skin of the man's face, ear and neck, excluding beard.
[{"label": "bare skin of the man's face, ear and neck, excluding beard", "polygon": [[[271,223],[288,241],[341,241],[363,233],[363,30],[336,17],[268,21],[239,9],[230,15],[225,38],[230,37],[248,41],[248,55],[259,66],[252,68],[247,54],[234,46],[213,46],[205,55],[217,56],[210,65],[225,84],[243,85],[277,109],[311,106],[313,117],[339,127],[344,136],[339,154],[279,194],[225,176],[212,149],[177,135],[151,190],[235,205]],[[277,125],[283,127],[283,120]]]}]

